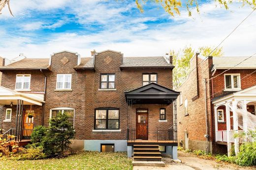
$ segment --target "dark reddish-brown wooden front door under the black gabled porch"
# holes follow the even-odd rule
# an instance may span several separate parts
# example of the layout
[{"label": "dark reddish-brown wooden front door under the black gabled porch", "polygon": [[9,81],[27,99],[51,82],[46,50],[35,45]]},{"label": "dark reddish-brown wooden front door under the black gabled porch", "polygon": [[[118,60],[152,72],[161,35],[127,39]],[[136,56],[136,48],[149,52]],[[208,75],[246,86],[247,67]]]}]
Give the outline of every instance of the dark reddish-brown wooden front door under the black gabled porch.
[{"label": "dark reddish-brown wooden front door under the black gabled porch", "polygon": [[136,139],[148,140],[148,111],[137,110]]}]

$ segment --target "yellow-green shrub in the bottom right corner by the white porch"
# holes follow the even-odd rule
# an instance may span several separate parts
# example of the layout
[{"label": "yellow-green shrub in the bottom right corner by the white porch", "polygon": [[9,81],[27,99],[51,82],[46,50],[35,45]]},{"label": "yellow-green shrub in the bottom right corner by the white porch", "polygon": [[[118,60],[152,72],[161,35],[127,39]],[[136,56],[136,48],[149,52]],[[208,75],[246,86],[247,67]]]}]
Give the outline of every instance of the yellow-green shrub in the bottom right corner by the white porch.
[{"label": "yellow-green shrub in the bottom right corner by the white porch", "polygon": [[245,143],[240,146],[236,164],[240,166],[256,165],[256,142]]}]

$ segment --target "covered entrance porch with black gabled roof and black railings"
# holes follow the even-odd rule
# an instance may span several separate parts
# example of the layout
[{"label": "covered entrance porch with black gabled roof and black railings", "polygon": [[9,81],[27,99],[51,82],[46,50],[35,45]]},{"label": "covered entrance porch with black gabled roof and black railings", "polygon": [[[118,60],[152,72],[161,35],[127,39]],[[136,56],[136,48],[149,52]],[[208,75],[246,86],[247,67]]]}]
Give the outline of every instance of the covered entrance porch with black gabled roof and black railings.
[{"label": "covered entrance porch with black gabled roof and black railings", "polygon": [[150,83],[125,95],[128,103],[128,156],[136,155],[134,147],[152,145],[177,159],[177,120],[173,116],[172,102],[179,92]]}]

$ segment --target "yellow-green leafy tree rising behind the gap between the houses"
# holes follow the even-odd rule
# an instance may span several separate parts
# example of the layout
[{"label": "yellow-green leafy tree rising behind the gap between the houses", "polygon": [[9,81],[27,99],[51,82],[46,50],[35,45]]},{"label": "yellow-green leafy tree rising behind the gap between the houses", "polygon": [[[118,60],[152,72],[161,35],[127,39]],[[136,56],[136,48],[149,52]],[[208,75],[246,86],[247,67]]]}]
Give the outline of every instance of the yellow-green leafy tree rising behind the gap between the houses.
[{"label": "yellow-green leafy tree rising behind the gap between the houses", "polygon": [[[200,47],[197,51],[201,56],[206,57],[212,50],[212,47]],[[214,57],[222,56],[223,54],[223,48],[217,48],[211,53]],[[190,60],[195,55],[195,50],[191,46],[186,46],[179,51],[171,50],[170,55],[173,56],[173,65],[175,66],[173,69],[173,87],[177,89],[186,80],[191,71]]]}]

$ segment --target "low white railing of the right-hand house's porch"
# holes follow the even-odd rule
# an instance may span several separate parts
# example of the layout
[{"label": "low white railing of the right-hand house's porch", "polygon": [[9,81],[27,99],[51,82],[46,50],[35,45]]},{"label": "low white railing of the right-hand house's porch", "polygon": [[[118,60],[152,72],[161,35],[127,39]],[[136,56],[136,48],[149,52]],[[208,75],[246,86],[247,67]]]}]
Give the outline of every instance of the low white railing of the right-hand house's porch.
[{"label": "low white railing of the right-hand house's porch", "polygon": [[[216,141],[227,142],[226,133],[227,133],[226,130],[218,130],[217,136],[216,136]],[[229,141],[232,143],[235,142],[234,134],[238,134],[237,138],[238,138],[239,142],[253,142],[253,138],[251,136],[245,136],[243,130],[237,130],[237,131],[230,130],[229,131],[229,137],[230,137]]]}]

